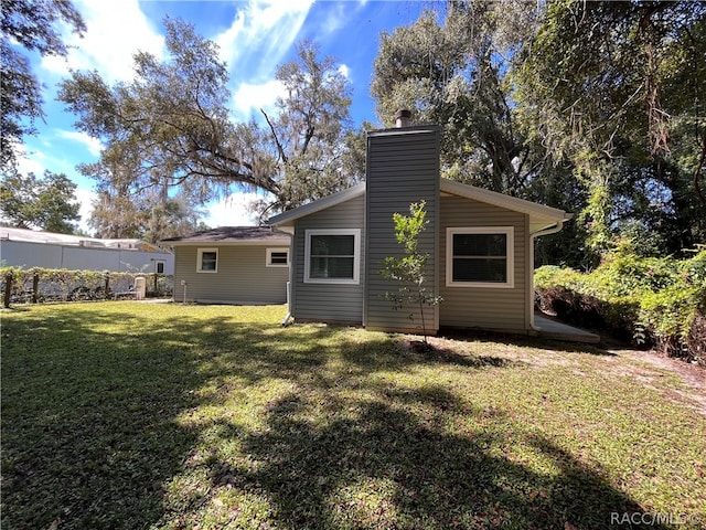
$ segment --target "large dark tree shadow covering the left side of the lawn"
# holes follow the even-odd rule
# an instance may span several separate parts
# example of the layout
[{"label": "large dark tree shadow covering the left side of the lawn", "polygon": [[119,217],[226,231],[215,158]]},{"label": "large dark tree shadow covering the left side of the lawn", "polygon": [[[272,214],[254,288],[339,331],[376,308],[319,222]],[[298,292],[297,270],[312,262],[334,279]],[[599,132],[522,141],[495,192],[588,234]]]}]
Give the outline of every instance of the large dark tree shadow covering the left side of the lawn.
[{"label": "large dark tree shadow covering the left side of the lawn", "polygon": [[172,479],[203,443],[180,416],[227,399],[218,389],[234,375],[245,391],[270,379],[324,389],[418,362],[385,352],[384,338],[343,341],[336,351],[359,358],[354,373],[322,374],[319,344],[336,328],[188,314],[154,326],[129,309],[55,309],[3,322],[2,528],[159,524]]}]

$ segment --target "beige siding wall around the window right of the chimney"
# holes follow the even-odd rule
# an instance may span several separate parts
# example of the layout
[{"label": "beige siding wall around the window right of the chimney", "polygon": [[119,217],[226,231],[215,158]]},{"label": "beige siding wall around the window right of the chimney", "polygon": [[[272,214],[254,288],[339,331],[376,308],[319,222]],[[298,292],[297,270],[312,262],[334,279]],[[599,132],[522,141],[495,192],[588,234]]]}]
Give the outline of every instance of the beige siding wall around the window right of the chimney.
[{"label": "beige siding wall around the window right of the chimney", "polygon": [[[447,287],[446,286],[446,237],[447,227],[461,226],[513,226],[514,227],[514,286],[499,287]],[[458,328],[488,328],[526,330],[530,328],[526,289],[527,267],[525,262],[528,245],[527,216],[460,197],[441,197],[441,237],[439,245],[440,326]]]}]

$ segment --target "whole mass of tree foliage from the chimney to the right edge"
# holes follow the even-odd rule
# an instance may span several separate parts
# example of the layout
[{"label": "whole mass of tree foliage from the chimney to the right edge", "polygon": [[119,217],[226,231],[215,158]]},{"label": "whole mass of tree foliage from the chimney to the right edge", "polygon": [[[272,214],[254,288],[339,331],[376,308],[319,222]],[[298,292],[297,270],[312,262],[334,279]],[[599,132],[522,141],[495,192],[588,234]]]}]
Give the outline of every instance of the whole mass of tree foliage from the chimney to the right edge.
[{"label": "whole mass of tree foliage from the chimney to the right edge", "polygon": [[466,0],[383,34],[372,93],[443,125],[446,177],[575,212],[542,261],[706,241],[703,2]]}]

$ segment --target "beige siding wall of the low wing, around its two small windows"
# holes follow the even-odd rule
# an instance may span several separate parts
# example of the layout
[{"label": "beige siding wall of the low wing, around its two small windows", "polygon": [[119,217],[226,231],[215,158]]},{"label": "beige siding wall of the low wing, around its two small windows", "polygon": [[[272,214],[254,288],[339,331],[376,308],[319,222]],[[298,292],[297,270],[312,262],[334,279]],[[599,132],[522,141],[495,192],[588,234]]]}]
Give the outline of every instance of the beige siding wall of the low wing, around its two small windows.
[{"label": "beige siding wall of the low wing, around its two small windows", "polygon": [[[218,250],[218,272],[197,273],[199,248]],[[182,301],[186,280],[186,300],[220,304],[285,304],[288,267],[267,267],[268,245],[176,246],[174,300]],[[288,247],[281,247],[287,251]]]}]

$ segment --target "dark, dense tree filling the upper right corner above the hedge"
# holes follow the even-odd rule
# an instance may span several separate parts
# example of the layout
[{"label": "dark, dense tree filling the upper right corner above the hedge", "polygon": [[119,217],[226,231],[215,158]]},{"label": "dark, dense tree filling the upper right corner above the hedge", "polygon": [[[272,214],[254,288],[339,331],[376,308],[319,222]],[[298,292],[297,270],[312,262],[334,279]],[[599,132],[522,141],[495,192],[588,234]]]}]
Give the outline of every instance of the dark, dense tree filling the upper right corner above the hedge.
[{"label": "dark, dense tree filling the upper right corner above the hedge", "polygon": [[617,231],[662,252],[706,237],[704,56],[703,2],[565,0],[542,12],[514,61],[517,109],[585,189],[593,250]]}]

